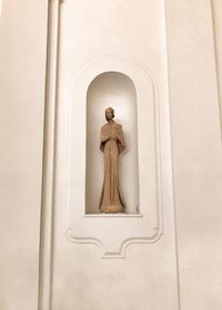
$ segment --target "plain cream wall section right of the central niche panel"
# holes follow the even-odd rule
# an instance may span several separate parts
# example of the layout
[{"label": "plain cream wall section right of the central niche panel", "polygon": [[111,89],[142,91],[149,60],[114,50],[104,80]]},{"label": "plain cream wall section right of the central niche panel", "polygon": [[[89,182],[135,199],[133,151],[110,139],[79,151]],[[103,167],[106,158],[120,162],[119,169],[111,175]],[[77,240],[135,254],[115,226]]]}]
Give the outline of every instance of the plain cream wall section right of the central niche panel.
[{"label": "plain cream wall section right of the central niche panel", "polygon": [[181,309],[222,307],[222,152],[211,1],[168,2]]}]

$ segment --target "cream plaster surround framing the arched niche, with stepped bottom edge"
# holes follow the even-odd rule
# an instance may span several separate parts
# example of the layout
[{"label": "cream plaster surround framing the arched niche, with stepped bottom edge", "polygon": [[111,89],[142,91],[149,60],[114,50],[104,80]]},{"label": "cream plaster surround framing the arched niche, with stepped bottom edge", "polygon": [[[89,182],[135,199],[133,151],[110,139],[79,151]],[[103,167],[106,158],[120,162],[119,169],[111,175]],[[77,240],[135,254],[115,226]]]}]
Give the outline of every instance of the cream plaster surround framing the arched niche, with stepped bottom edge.
[{"label": "cream plaster surround framing the arched niche, with stepped bottom edge", "polygon": [[[87,94],[91,82],[105,72],[124,73],[137,90],[139,214],[85,214]],[[159,120],[159,107],[164,105],[159,105],[158,86],[150,69],[137,59],[104,55],[72,71],[64,104],[60,105],[59,198],[64,206],[65,236],[73,244],[97,245],[102,258],[123,258],[129,245],[155,242],[163,232],[162,204],[169,200],[162,193],[169,193],[172,183],[164,153],[165,145],[170,145],[169,122]],[[119,117],[118,111],[115,115]]]}]

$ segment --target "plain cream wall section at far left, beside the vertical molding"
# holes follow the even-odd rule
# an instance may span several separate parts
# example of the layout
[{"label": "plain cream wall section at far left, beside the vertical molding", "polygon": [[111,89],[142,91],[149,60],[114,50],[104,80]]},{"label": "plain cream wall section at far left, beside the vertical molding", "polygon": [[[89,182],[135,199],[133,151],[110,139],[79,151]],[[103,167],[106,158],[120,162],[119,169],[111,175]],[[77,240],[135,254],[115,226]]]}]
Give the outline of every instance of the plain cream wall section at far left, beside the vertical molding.
[{"label": "plain cream wall section at far left, beside the vertical molding", "polygon": [[38,307],[47,1],[3,1],[0,31],[0,309],[33,310]]}]

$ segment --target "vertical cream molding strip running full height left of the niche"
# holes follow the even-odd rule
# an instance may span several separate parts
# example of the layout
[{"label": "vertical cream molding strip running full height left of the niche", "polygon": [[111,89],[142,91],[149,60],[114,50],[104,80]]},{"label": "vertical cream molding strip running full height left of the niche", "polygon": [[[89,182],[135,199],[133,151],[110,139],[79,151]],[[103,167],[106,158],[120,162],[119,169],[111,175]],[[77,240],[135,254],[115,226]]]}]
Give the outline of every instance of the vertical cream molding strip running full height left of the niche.
[{"label": "vertical cream molding strip running full height left of the niche", "polygon": [[58,97],[58,54],[61,2],[62,1],[60,0],[50,0],[48,7],[42,197],[39,249],[39,310],[51,309],[54,220],[54,165],[57,142],[56,118]]}]

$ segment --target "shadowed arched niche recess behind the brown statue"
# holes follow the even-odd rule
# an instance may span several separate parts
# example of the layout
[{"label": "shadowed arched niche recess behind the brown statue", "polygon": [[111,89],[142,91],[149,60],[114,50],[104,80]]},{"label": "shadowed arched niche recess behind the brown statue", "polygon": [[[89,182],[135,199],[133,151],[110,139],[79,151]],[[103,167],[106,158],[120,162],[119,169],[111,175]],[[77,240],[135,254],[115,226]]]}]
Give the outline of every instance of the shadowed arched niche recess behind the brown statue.
[{"label": "shadowed arched niche recess behind the brown statue", "polygon": [[99,214],[103,183],[103,153],[100,128],[104,111],[112,106],[115,122],[123,127],[125,151],[119,158],[119,179],[125,213],[139,213],[138,113],[132,80],[120,72],[104,72],[90,83],[87,92],[85,214]]}]

